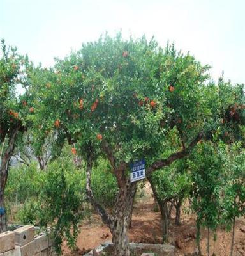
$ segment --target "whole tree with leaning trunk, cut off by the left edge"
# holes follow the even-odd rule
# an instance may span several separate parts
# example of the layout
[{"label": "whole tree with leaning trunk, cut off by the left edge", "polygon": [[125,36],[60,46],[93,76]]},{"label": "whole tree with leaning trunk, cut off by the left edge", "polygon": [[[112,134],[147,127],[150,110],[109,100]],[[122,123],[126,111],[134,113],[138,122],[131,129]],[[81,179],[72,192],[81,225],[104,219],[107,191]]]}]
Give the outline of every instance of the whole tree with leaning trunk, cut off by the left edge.
[{"label": "whole tree with leaning trunk, cut off by the left edge", "polygon": [[4,189],[8,179],[10,159],[14,148],[26,130],[26,115],[29,111],[25,95],[17,97],[16,86],[25,77],[27,58],[17,54],[17,49],[6,47],[1,41],[0,59],[0,232],[6,230]]}]

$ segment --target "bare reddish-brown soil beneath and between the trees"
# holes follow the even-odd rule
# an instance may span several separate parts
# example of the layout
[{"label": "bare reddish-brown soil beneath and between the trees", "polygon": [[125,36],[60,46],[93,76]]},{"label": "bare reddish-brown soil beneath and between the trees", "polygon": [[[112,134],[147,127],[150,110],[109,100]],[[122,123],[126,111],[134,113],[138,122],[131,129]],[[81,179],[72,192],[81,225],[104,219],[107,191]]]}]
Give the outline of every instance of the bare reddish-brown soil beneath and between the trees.
[{"label": "bare reddish-brown soil beneath and between the trees", "polygon": [[[184,256],[193,253],[197,248],[195,243],[195,216],[182,211],[181,226],[174,224],[173,218],[170,223],[170,244],[177,248],[175,256]],[[93,214],[92,220],[84,221],[77,240],[77,250],[70,252],[66,243],[63,245],[63,255],[76,256],[84,255],[89,250],[99,244],[112,239],[110,230],[103,225],[100,217]],[[128,235],[131,242],[135,243],[161,243],[161,216],[160,212],[154,212],[154,200],[152,191],[147,184],[144,189],[144,197],[137,198],[133,209],[132,229]],[[230,255],[231,232],[219,229],[218,238],[214,246],[211,238],[210,255],[228,256]],[[202,230],[202,253],[206,255],[207,232]],[[215,248],[214,248],[215,247]],[[214,254],[213,254],[214,253]],[[189,254],[190,255],[190,254]],[[235,228],[234,256],[245,256],[245,220],[237,220]]]}]

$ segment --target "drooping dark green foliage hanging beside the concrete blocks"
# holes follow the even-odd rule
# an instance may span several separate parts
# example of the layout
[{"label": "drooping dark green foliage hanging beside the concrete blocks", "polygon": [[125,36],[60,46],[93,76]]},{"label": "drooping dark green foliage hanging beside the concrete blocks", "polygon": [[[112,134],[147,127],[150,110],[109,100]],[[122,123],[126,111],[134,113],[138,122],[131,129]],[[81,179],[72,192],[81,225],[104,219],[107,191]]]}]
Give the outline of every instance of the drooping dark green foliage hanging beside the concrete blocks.
[{"label": "drooping dark green foliage hanging beside the concrete blocks", "polygon": [[75,247],[80,220],[84,217],[84,175],[70,159],[54,161],[47,170],[47,181],[41,191],[41,226],[52,223],[57,252],[61,253],[63,237]]}]

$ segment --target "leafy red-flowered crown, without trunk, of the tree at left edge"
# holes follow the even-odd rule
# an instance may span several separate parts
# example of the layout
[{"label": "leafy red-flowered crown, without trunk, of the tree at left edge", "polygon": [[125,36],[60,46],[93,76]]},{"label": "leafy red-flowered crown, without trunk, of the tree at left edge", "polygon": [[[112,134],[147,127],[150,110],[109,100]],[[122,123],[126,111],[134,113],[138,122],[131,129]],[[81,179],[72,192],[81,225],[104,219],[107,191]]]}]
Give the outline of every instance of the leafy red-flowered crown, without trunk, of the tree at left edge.
[{"label": "leafy red-flowered crown, without trunk, of the tree at left edge", "polygon": [[[8,142],[12,132],[19,124],[24,130],[26,126],[26,115],[29,111],[26,94],[18,97],[16,86],[24,85],[24,77],[28,58],[17,53],[16,47],[7,47],[4,40],[1,40],[0,58],[0,145]],[[6,143],[5,147],[7,147]],[[3,157],[0,152],[0,157]]]}]

